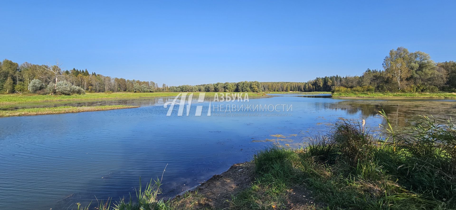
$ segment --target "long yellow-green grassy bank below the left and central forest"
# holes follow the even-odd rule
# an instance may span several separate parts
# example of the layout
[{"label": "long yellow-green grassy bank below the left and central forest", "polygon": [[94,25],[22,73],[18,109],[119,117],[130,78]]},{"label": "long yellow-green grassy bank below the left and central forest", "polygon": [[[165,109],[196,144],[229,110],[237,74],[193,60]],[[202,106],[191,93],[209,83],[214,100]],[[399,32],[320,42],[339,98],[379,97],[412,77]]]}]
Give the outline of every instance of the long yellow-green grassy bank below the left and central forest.
[{"label": "long yellow-green grassy bank below the left and central forest", "polygon": [[[64,100],[94,100],[94,99],[132,99],[132,98],[148,98],[148,97],[167,97],[176,96],[179,93],[175,92],[156,92],[156,93],[87,93],[83,95],[37,95],[37,94],[0,94],[0,104],[17,104],[30,102],[44,101],[64,101]],[[194,95],[199,95],[200,92],[195,92]],[[207,97],[214,96],[214,93],[206,93]],[[227,93],[224,93],[227,94]],[[231,94],[231,93],[229,93]],[[241,94],[241,93],[233,93]],[[245,93],[243,93],[245,94]],[[264,96],[264,93],[248,93],[249,98]],[[243,95],[244,97],[244,95]]]}]

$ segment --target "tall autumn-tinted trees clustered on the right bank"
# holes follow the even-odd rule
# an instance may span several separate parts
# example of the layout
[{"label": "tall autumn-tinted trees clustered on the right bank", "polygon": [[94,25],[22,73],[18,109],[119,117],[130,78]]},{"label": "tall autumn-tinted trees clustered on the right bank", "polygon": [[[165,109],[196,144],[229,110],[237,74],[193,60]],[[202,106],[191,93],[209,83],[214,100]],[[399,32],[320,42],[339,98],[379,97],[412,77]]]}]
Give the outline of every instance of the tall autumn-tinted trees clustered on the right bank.
[{"label": "tall autumn-tinted trees clustered on the right bank", "polygon": [[436,63],[427,53],[399,47],[389,51],[383,60],[383,70],[368,69],[348,80],[348,84],[333,91],[456,92],[456,62]]}]

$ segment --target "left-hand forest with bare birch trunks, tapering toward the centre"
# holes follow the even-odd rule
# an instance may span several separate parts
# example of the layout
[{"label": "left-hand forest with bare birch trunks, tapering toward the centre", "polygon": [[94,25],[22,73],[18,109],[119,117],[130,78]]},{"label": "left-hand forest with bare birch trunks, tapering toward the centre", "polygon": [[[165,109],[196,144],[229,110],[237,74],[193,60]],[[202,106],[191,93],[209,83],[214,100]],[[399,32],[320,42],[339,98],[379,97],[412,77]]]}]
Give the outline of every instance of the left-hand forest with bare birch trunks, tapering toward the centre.
[{"label": "left-hand forest with bare birch trunks, tapering toward the centre", "polygon": [[[75,93],[88,92],[154,92],[166,90],[166,85],[158,87],[153,81],[125,80],[113,78],[87,69],[62,70],[61,65],[36,65],[23,63],[18,65],[11,60],[0,62],[0,91],[5,93],[36,92],[52,94],[57,84],[68,88],[79,87]],[[58,92],[58,91],[57,91]]]}]

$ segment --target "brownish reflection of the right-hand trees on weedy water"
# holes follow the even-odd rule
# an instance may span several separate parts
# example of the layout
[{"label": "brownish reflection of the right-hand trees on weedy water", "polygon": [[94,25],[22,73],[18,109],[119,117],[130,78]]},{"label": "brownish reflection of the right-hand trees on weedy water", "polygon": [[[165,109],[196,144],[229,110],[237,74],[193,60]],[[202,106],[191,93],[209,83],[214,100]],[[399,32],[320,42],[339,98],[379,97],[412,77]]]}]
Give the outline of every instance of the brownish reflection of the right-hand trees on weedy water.
[{"label": "brownish reflection of the right-hand trees on weedy water", "polygon": [[[396,127],[410,125],[420,115],[448,119],[456,116],[456,103],[452,101],[383,101],[383,100],[344,100],[325,103],[326,109],[343,110],[347,115],[361,115],[363,119],[374,117],[383,110]],[[386,124],[386,120],[382,120]]]}]

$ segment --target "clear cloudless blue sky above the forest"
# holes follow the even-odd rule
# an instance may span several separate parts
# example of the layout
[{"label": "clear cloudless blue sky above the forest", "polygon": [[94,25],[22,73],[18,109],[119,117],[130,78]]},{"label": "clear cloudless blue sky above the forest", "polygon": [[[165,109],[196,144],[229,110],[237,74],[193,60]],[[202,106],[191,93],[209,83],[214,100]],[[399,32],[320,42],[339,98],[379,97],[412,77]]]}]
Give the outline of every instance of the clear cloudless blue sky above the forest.
[{"label": "clear cloudless blue sky above the forest", "polygon": [[455,1],[4,1],[0,59],[167,85],[307,81],[404,46],[456,60]]}]

